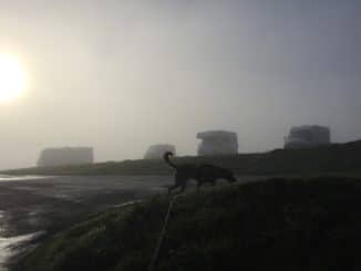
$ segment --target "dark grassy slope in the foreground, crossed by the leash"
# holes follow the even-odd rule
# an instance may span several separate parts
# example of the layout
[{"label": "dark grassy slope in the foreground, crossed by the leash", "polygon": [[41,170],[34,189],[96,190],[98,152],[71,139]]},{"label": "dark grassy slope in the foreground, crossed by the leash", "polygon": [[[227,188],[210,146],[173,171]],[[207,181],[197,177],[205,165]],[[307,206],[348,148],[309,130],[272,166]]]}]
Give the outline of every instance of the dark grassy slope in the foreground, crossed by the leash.
[{"label": "dark grassy slope in the foreground, crossed by the leash", "polygon": [[[23,271],[147,270],[169,197],[114,208],[56,234]],[[359,270],[361,179],[271,179],[175,201],[155,270]]]}]

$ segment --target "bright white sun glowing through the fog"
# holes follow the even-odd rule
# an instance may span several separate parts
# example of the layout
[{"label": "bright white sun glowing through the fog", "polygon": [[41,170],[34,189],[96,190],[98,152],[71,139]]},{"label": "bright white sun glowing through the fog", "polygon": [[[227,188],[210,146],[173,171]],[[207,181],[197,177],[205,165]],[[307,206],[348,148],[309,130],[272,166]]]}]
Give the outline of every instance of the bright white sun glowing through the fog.
[{"label": "bright white sun glowing through the fog", "polygon": [[0,53],[0,103],[21,96],[25,87],[27,74],[20,62],[10,54]]}]

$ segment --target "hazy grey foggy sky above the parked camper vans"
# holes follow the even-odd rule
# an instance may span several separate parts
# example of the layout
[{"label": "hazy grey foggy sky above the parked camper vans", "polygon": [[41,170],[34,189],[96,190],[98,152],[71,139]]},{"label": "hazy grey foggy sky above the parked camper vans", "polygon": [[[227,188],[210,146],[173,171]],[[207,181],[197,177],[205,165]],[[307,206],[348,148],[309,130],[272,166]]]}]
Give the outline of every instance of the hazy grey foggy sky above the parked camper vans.
[{"label": "hazy grey foggy sky above the parked camper vans", "polygon": [[42,148],[194,155],[196,133],[238,133],[240,153],[282,147],[293,125],[361,138],[358,0],[0,0],[0,52],[29,87],[0,104],[0,168]]}]

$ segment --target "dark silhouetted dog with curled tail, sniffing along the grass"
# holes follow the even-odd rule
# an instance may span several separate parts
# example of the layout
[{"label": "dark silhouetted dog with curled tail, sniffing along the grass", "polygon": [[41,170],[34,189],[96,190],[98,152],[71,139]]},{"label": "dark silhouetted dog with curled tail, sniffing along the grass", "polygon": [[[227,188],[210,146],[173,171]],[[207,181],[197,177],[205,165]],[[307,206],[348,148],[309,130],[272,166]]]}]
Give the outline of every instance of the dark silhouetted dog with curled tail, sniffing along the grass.
[{"label": "dark silhouetted dog with curled tail, sniffing along the grass", "polygon": [[180,191],[184,191],[189,179],[195,179],[197,181],[197,189],[205,183],[216,185],[217,179],[226,179],[230,183],[236,181],[235,176],[229,169],[207,164],[198,166],[194,164],[185,164],[178,166],[169,160],[169,156],[172,155],[173,154],[169,152],[164,154],[165,161],[176,170],[175,184],[168,188],[168,192],[177,187],[180,187]]}]

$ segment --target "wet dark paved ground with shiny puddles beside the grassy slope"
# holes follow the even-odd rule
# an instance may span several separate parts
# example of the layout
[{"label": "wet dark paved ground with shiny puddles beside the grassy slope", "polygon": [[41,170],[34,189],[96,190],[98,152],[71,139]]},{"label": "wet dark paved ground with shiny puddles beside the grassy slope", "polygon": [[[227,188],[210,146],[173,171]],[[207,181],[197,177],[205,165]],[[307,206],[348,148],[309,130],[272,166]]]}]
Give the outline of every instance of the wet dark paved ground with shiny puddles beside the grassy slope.
[{"label": "wet dark paved ground with shiny puddles beside the grassy slope", "polygon": [[0,177],[0,271],[47,236],[169,184],[165,176]]}]

